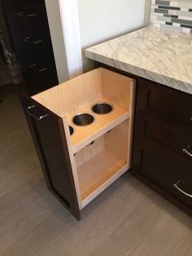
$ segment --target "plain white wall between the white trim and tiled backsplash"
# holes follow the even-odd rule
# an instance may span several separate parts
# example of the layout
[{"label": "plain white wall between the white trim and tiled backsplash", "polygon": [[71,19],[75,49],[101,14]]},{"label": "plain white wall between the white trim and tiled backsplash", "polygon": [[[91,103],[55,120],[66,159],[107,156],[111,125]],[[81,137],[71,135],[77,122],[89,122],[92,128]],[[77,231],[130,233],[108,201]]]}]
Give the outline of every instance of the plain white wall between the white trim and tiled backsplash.
[{"label": "plain white wall between the white trim and tiled backsplash", "polygon": [[[146,0],[148,1],[148,0]],[[84,49],[144,25],[145,0],[77,0]],[[91,68],[85,59],[85,71]]]}]

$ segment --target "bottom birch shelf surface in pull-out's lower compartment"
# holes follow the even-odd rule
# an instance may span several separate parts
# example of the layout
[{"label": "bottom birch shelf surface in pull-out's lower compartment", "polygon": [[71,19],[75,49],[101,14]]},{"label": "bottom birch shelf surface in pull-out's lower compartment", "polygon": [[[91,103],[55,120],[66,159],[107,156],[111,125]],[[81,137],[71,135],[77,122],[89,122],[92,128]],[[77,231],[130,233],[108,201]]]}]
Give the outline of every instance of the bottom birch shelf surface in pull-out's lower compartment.
[{"label": "bottom birch shelf surface in pull-out's lower compartment", "polygon": [[77,175],[82,201],[124,166],[126,166],[124,160],[112,155],[106,149],[79,166]]}]

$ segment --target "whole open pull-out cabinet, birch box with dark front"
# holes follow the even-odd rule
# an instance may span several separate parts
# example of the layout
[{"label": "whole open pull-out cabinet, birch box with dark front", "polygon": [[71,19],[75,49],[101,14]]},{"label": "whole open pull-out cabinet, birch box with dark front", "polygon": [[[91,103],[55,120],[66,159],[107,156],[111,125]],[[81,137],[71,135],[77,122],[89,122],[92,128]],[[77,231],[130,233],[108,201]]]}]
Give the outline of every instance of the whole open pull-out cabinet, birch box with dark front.
[{"label": "whole open pull-out cabinet, birch box with dark front", "polygon": [[[21,96],[48,188],[77,219],[131,165],[134,90],[134,79],[97,68],[32,98]],[[111,112],[94,113],[92,106],[103,102]],[[75,125],[81,113],[94,121]]]}]

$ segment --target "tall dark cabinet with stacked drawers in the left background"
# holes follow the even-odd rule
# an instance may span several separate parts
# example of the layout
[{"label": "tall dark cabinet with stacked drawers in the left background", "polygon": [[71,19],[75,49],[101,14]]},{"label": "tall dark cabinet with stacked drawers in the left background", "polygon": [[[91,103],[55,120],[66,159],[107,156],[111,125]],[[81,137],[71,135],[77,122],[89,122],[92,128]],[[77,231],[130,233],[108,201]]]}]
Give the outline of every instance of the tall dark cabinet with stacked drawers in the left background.
[{"label": "tall dark cabinet with stacked drawers in the left background", "polygon": [[2,0],[28,95],[59,84],[44,0]]}]

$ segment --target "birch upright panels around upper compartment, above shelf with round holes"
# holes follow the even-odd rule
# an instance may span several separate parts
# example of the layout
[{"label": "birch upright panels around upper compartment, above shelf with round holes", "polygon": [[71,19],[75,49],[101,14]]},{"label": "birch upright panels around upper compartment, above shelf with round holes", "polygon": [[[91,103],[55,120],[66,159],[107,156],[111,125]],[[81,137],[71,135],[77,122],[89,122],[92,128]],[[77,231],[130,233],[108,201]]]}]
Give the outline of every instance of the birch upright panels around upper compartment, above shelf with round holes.
[{"label": "birch upright panels around upper compartment, above shelf with round holes", "polygon": [[99,99],[108,98],[128,110],[133,79],[106,68],[96,68],[79,77],[33,95],[33,99],[59,117],[78,112]]}]

